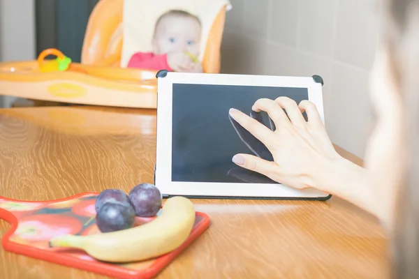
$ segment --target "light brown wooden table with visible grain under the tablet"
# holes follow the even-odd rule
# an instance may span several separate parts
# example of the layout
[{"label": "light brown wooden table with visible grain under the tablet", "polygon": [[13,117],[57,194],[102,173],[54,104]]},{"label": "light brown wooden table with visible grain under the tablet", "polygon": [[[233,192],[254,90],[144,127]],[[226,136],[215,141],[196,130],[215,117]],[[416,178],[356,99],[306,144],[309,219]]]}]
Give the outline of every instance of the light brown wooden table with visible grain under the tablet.
[{"label": "light brown wooden table with visible grain under the tablet", "polygon": [[[152,183],[155,126],[154,110],[0,110],[0,195],[58,199],[106,188],[128,192],[138,183]],[[383,279],[388,274],[383,229],[337,197],[193,202],[212,225],[159,278]],[[0,221],[0,235],[9,227]],[[0,278],[105,277],[0,248]]]}]

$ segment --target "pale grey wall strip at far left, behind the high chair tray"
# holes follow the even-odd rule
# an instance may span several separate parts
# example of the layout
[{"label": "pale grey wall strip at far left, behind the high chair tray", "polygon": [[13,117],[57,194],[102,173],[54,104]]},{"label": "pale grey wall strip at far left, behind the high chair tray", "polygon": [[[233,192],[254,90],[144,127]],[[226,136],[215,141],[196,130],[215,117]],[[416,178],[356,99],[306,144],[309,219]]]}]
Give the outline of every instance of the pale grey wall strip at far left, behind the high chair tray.
[{"label": "pale grey wall strip at far left, behind the high chair tray", "polygon": [[[0,61],[36,59],[34,0],[0,0]],[[15,98],[0,96],[1,107]]]}]

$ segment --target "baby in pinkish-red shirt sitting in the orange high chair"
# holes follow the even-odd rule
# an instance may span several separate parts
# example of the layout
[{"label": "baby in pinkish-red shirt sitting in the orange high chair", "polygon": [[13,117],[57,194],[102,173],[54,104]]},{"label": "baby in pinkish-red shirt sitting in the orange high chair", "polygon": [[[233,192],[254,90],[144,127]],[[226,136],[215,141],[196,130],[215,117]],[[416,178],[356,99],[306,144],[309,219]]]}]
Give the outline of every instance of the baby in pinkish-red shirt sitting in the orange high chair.
[{"label": "baby in pinkish-red shirt sitting in the orange high chair", "polygon": [[169,10],[156,22],[153,52],[133,54],[128,67],[203,73],[199,61],[194,61],[200,48],[200,32],[198,17],[183,10]]}]

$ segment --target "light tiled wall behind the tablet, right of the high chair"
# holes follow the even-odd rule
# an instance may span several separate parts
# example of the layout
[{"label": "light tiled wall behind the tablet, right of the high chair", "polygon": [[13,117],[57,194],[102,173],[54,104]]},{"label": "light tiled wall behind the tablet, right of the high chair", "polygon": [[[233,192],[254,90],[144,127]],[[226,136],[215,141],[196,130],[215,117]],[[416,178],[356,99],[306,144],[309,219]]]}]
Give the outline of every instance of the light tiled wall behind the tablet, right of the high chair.
[{"label": "light tiled wall behind the tablet, right of the high chair", "polygon": [[376,0],[230,0],[223,73],[321,75],[335,144],[363,156],[371,121],[368,75]]}]

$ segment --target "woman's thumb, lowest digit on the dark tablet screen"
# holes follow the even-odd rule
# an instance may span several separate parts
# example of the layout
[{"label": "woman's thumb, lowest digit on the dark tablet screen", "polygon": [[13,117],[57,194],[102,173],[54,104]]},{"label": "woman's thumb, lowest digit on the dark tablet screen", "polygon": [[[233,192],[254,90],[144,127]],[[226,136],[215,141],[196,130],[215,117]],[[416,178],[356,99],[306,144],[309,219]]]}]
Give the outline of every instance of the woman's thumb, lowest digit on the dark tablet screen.
[{"label": "woman's thumb, lowest digit on the dark tablet screen", "polygon": [[244,167],[245,169],[250,169],[253,172],[258,172],[263,174],[270,179],[277,181],[278,169],[279,166],[274,162],[263,160],[262,158],[249,155],[249,154],[236,154],[233,156],[233,163]]}]

